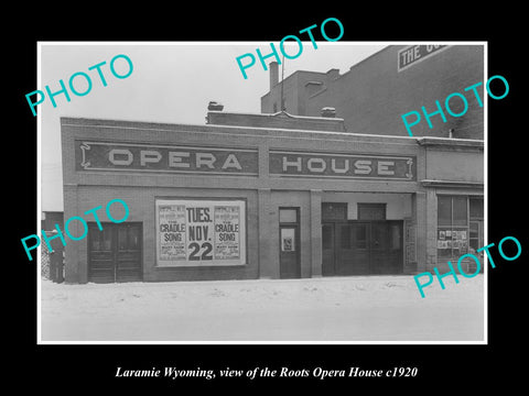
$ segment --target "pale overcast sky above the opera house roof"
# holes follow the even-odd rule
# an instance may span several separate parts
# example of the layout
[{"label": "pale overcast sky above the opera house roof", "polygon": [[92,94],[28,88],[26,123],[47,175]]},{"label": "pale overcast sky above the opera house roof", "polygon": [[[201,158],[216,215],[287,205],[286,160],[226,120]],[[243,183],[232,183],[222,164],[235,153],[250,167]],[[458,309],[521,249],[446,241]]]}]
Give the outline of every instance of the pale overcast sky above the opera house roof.
[{"label": "pale overcast sky above the opera house roof", "polygon": [[[311,42],[304,42],[298,58],[284,62],[284,78],[295,70],[327,72],[337,68],[344,74],[386,46],[378,43],[316,43],[317,48],[314,48]],[[56,92],[61,90],[62,79],[71,97],[68,102],[63,94],[55,96],[54,108],[46,96],[44,102],[36,107],[41,211],[63,210],[61,117],[205,124],[209,101],[223,103],[224,111],[260,113],[260,98],[269,90],[269,72],[262,68],[256,55],[256,48],[260,48],[263,55],[269,54],[269,42],[39,44],[35,90],[45,91],[48,86],[52,92]],[[279,43],[274,45],[279,48]],[[290,55],[299,51],[295,43],[284,48]],[[236,58],[247,53],[256,56],[256,64],[246,69],[248,78],[245,79]],[[130,76],[122,79],[110,72],[110,61],[120,54],[127,55],[133,65]],[[268,58],[267,63],[272,59]],[[106,64],[100,66],[100,70],[106,87],[97,70],[88,69],[102,62]],[[116,59],[115,68],[120,75],[128,72],[123,58]],[[86,73],[91,80],[91,89],[85,96],[75,96],[68,87],[71,76],[78,72]],[[83,77],[75,77],[74,87],[79,92],[88,90]],[[28,111],[31,114],[30,107]]]}]

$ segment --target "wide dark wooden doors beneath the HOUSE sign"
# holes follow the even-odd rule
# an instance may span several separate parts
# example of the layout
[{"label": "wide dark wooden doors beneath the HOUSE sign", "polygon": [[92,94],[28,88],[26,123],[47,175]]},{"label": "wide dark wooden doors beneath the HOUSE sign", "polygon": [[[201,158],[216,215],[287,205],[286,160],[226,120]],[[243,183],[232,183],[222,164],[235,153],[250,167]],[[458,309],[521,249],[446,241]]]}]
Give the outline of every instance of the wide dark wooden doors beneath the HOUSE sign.
[{"label": "wide dark wooden doors beneath the HOUSE sign", "polygon": [[402,245],[402,221],[324,222],[322,274],[401,274]]}]

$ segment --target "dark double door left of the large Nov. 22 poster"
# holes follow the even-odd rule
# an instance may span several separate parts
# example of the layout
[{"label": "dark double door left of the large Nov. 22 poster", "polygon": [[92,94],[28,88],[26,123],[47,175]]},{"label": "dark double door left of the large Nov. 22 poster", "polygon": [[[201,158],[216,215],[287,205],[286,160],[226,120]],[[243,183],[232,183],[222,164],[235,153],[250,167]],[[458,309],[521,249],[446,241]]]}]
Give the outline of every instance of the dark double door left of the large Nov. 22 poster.
[{"label": "dark double door left of the large Nov. 22 poster", "polygon": [[88,282],[142,280],[141,223],[88,224]]}]

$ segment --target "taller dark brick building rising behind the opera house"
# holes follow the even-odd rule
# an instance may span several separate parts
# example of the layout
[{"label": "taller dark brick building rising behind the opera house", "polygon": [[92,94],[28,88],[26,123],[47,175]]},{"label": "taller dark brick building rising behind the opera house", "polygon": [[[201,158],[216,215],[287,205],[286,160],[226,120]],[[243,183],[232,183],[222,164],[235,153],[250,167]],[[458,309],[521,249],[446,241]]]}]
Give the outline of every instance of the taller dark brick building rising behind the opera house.
[{"label": "taller dark brick building rising behind the opera house", "polygon": [[[287,61],[288,62],[288,61]],[[475,94],[464,88],[484,81],[483,45],[390,45],[359,62],[344,74],[298,70],[279,82],[278,64],[270,65],[270,91],[261,98],[261,112],[284,110],[291,114],[320,117],[322,108],[335,109],[352,133],[408,135],[401,116],[410,111],[436,110],[439,100],[446,122],[431,117],[432,128],[422,121],[412,127],[414,136],[484,139],[484,111]],[[281,107],[283,91],[283,107]],[[483,84],[477,92],[483,99]],[[462,117],[451,117],[444,100],[462,94],[468,103]],[[451,110],[461,113],[464,102],[450,100]],[[410,118],[410,122],[414,118]]]}]

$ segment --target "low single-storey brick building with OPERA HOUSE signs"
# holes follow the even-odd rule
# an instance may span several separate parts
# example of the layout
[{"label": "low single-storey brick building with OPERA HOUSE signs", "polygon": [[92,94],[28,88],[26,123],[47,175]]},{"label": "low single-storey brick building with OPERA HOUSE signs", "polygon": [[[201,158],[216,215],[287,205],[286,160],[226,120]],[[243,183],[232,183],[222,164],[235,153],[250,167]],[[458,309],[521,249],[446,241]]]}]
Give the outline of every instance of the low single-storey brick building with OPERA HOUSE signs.
[{"label": "low single-storey brick building with OPERA HOUSE signs", "polygon": [[102,207],[102,231],[86,217],[65,248],[69,283],[413,274],[483,245],[481,140],[287,112],[61,129],[65,221]]}]

